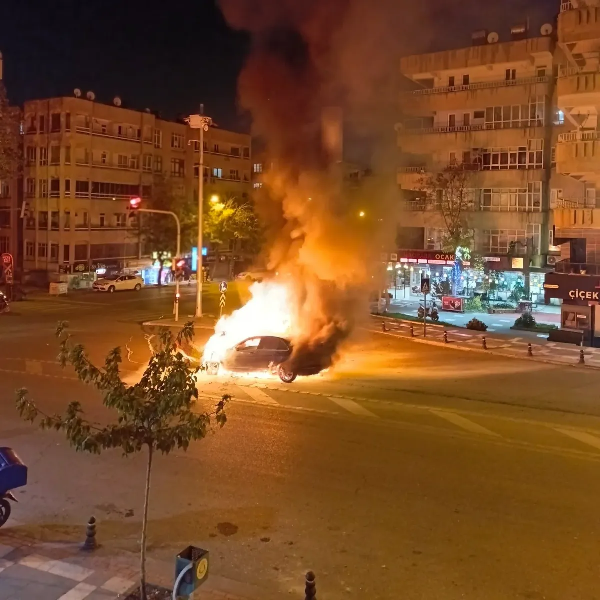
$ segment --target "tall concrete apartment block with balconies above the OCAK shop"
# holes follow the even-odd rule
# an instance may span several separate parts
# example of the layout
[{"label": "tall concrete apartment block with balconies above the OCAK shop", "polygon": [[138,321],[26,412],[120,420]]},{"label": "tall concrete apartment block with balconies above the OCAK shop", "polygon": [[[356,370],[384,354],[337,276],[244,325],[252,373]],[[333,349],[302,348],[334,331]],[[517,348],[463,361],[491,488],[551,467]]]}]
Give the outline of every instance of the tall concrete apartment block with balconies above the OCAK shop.
[{"label": "tall concrete apartment block with balconies above the OCAK shop", "polygon": [[[600,228],[600,4],[560,8],[558,25],[540,32],[515,26],[506,40],[476,32],[470,47],[401,61],[415,86],[401,94],[397,125],[399,253],[413,263],[411,287],[423,271],[443,275],[445,258],[453,258],[440,264],[433,256],[446,227],[419,190],[422,176],[452,165],[469,173],[465,216],[474,249],[507,289],[523,272],[522,261],[509,262],[511,242],[521,242],[520,254],[533,244],[534,299],[556,263],[600,263],[593,224],[597,215]],[[481,274],[472,276],[476,286]]]}]

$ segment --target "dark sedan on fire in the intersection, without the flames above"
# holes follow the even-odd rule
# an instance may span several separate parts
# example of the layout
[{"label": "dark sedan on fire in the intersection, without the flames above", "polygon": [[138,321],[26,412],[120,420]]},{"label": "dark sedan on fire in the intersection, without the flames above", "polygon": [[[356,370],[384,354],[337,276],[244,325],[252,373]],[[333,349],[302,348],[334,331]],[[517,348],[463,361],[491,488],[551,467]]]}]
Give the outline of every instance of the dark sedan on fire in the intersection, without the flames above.
[{"label": "dark sedan on fire in the intersection, without the flames above", "polygon": [[221,359],[205,355],[205,365],[211,375],[217,375],[221,369],[232,373],[271,373],[284,383],[323,370],[318,353],[302,353],[302,358],[296,358],[290,340],[273,335],[247,338],[227,350]]}]

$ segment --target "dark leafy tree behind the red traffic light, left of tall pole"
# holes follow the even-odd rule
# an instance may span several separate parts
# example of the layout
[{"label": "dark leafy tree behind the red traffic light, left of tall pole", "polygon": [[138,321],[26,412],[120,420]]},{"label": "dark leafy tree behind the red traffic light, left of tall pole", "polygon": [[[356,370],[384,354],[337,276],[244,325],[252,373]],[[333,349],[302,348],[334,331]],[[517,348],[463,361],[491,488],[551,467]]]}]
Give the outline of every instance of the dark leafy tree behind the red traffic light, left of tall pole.
[{"label": "dark leafy tree behind the red traffic light, left of tall pole", "polygon": [[[158,176],[152,187],[152,197],[143,208],[175,212],[181,221],[181,251],[191,250],[197,232],[197,209],[191,197],[175,181]],[[149,254],[156,253],[160,268],[158,285],[162,285],[165,263],[177,253],[177,226],[168,215],[140,214],[140,236]]]}]

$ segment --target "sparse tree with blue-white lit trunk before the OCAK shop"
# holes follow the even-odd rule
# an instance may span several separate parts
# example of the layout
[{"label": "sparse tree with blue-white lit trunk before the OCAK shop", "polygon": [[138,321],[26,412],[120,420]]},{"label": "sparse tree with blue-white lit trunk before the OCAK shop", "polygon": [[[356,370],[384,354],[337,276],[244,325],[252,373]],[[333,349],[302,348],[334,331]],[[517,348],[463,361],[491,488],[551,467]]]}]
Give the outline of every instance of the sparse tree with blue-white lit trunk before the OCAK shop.
[{"label": "sparse tree with blue-white lit trunk before the OCAK shop", "polygon": [[459,256],[458,249],[469,249],[473,244],[473,232],[467,226],[465,218],[465,213],[473,209],[471,175],[464,165],[453,164],[440,173],[424,175],[419,180],[419,188],[425,193],[425,202],[443,217],[443,250],[456,256],[452,275],[453,294],[458,291],[463,269],[463,257]]}]

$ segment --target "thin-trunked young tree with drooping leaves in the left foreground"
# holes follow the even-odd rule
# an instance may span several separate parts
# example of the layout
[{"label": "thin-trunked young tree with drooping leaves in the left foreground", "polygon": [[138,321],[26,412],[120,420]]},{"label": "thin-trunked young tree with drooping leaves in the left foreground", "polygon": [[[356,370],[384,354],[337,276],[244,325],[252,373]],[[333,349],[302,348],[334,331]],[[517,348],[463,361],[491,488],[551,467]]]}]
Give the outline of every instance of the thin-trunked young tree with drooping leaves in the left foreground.
[{"label": "thin-trunked young tree with drooping leaves in the left foreground", "polygon": [[104,367],[98,368],[86,356],[82,345],[71,342],[67,324],[58,326],[59,360],[63,367],[73,365],[82,382],[94,386],[103,395],[104,406],[115,410],[118,418],[110,425],[89,422],[79,402],[71,402],[64,415],[46,415],[28,397],[26,389],[17,391],[20,416],[42,429],[62,431],[78,452],[100,454],[103,450],[120,448],[125,456],[148,449],[142,540],[140,544],[140,598],[146,600],[146,544],[148,539],[148,506],[152,458],[155,452],[169,454],[175,449],[188,449],[191,442],[203,439],[211,430],[212,419],[218,427],[226,422],[224,395],[212,413],[194,412],[198,398],[196,373],[188,359],[178,352],[182,343],[193,338],[193,325],[188,323],[174,337],[163,329],[158,349],[152,354],[142,380],[127,386],[121,380],[119,367],[121,349],[111,350]]}]

